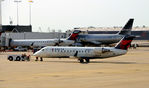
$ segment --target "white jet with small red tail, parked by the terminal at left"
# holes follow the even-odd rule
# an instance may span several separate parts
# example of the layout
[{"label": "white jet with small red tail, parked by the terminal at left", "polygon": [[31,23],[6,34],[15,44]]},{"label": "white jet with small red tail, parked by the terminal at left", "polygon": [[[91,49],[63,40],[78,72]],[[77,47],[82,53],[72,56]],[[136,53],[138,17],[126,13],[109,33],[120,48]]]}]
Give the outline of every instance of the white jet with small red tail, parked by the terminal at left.
[{"label": "white jet with small red tail, parked by the terminal at left", "polygon": [[44,47],[44,46],[69,46],[75,42],[78,34],[81,31],[75,30],[66,39],[22,39],[11,40],[10,46],[32,46],[32,47]]}]

